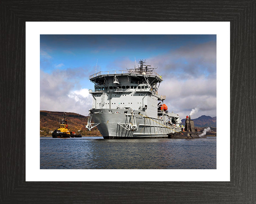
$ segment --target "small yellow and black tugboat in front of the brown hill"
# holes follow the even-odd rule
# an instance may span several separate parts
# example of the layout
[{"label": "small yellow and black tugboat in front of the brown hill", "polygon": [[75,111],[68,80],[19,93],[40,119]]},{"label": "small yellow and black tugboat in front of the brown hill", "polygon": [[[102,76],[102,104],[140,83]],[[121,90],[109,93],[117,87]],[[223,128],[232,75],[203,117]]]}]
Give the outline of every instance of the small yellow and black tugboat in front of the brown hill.
[{"label": "small yellow and black tugboat in front of the brown hill", "polygon": [[62,123],[59,125],[60,128],[58,130],[54,130],[52,133],[53,138],[69,138],[69,137],[82,137],[81,134],[76,134],[72,132],[68,128],[66,113],[64,113],[64,119],[62,119]]}]

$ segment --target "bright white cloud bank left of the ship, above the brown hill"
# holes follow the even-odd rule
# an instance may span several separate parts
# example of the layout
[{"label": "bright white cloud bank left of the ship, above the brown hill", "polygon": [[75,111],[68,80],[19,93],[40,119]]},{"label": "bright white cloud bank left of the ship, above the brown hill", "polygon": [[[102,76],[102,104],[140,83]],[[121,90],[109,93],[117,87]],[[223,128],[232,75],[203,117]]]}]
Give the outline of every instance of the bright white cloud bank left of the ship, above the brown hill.
[{"label": "bright white cloud bank left of the ship, above the brown hill", "polygon": [[89,90],[73,90],[76,81],[68,80],[67,76],[64,71],[52,74],[40,71],[40,110],[88,115],[92,107]]}]

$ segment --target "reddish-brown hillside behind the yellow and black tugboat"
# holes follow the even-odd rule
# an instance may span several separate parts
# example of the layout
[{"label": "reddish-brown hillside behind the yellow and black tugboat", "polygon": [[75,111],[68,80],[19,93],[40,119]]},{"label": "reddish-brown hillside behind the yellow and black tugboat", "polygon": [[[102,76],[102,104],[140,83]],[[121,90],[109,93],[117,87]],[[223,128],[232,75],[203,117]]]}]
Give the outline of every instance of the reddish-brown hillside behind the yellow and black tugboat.
[{"label": "reddish-brown hillside behind the yellow and black tugboat", "polygon": [[[40,135],[52,135],[50,131],[59,128],[59,122],[63,119],[63,112],[40,111]],[[68,128],[81,135],[101,135],[97,128],[91,131],[85,128],[88,116],[66,112]],[[79,132],[78,132],[79,131]]]}]

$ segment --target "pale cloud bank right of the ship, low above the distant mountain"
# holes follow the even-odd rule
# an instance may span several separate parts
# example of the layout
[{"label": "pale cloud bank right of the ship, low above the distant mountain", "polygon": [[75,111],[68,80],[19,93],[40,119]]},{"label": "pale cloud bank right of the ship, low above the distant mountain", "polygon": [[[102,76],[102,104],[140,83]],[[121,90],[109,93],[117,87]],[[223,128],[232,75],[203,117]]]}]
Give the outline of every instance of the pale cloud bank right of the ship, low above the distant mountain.
[{"label": "pale cloud bank right of the ship, low above the distant mountain", "polygon": [[175,77],[167,78],[160,84],[159,94],[166,95],[164,103],[169,111],[174,111],[181,118],[189,115],[192,109],[193,118],[201,115],[217,115],[216,78],[190,78],[180,80]]}]

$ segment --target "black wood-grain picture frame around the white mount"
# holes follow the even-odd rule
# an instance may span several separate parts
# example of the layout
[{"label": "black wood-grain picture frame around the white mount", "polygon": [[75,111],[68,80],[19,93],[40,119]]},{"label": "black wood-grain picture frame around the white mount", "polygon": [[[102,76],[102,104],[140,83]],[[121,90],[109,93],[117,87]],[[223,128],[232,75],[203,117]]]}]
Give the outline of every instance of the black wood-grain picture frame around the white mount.
[{"label": "black wood-grain picture frame around the white mount", "polygon": [[[2,0],[0,203],[256,203],[255,2]],[[230,182],[26,182],[26,21],[229,21]]]}]

